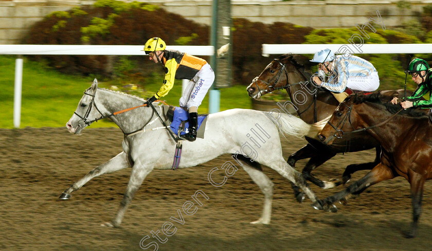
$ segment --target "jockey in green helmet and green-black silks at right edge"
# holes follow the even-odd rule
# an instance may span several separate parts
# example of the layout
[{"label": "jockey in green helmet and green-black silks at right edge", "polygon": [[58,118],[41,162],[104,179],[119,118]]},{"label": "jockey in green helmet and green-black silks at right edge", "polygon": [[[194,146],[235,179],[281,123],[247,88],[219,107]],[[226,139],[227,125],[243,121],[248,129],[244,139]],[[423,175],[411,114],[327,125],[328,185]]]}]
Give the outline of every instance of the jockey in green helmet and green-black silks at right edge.
[{"label": "jockey in green helmet and green-black silks at right edge", "polygon": [[[423,95],[432,94],[432,69],[429,69],[429,64],[424,59],[415,58],[411,60],[405,74],[410,74],[412,81],[418,84],[416,91],[410,97],[406,97],[406,101],[401,102],[404,109],[409,107],[432,108],[432,99],[421,100]],[[391,100],[392,104],[398,103],[398,98],[394,97]]]}]

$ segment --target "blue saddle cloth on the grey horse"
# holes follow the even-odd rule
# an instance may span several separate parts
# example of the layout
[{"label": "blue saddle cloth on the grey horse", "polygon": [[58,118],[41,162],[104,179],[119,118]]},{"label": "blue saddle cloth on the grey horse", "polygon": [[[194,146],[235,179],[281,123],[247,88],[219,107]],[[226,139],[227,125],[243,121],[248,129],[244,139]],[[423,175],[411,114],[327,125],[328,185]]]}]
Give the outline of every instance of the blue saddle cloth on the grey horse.
[{"label": "blue saddle cloth on the grey horse", "polygon": [[[198,115],[198,129],[196,130],[197,138],[204,138],[207,116],[208,114]],[[189,132],[189,117],[186,110],[182,109],[181,107],[170,105],[167,111],[167,117],[171,122],[170,129],[175,135],[185,135]]]}]

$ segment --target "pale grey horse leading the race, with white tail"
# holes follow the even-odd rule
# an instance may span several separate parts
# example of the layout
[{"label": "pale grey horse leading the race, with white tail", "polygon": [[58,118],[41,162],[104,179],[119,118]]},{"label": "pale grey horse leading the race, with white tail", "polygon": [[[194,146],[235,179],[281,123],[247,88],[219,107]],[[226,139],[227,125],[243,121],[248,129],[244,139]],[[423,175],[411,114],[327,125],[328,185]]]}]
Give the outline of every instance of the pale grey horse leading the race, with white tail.
[{"label": "pale grey horse leading the race, with white tail", "polygon": [[[80,189],[92,178],[131,167],[130,180],[120,208],[112,222],[105,224],[107,226],[120,225],[135,192],[153,169],[169,170],[172,167],[176,142],[168,130],[163,129],[166,126],[162,122],[163,119],[159,120],[161,118],[159,116],[165,116],[161,111],[168,106],[153,106],[154,109],[152,109],[144,106],[145,103],[146,100],[132,95],[98,88],[95,79],[92,86],[84,92],[75,113],[66,123],[66,128],[70,133],[80,134],[92,122],[109,117],[125,135],[121,153],[90,171],[60,195],[60,199],[69,199],[70,193]],[[137,106],[142,107],[116,115],[120,110],[124,111]],[[311,129],[309,124],[296,117],[284,115],[280,117],[279,122],[280,126],[276,127],[274,121],[269,119],[264,112],[254,110],[233,109],[210,114],[205,125],[205,138],[183,143],[182,160],[178,168],[193,167],[222,154],[233,154],[234,160],[239,161],[238,164],[241,164],[240,166],[264,194],[262,217],[253,223],[269,224],[273,183],[260,168],[256,168],[257,165],[262,164],[274,169],[299,186],[312,202],[316,201],[314,192],[309,188],[303,176],[283,159],[279,133],[302,137],[308,133],[317,134],[318,132],[313,131],[314,129]],[[258,130],[255,129],[258,126],[262,129],[261,133],[264,136],[260,135],[262,139],[257,136],[253,143],[249,143],[248,140],[251,140],[249,131]],[[130,134],[131,132],[136,133]],[[237,170],[235,165],[231,167]],[[211,177],[209,181],[210,179]]]}]

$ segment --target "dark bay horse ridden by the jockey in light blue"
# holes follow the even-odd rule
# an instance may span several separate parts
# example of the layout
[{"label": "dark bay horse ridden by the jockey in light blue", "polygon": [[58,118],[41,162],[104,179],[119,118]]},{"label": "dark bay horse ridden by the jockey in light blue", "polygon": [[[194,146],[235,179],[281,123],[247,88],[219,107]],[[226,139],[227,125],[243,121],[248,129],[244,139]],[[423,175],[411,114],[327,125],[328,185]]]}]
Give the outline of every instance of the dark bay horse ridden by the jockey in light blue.
[{"label": "dark bay horse ridden by the jockey in light blue", "polygon": [[[262,73],[256,77],[246,88],[250,97],[259,99],[267,93],[277,89],[285,89],[291,101],[281,104],[282,107],[292,106],[297,115],[305,122],[312,124],[317,121],[326,121],[339,105],[339,102],[325,88],[318,87],[311,81],[311,74],[304,71],[292,53],[286,53],[269,63]],[[390,98],[403,97],[403,89],[385,92]],[[275,109],[280,112],[279,109]],[[288,110],[288,109],[286,109]],[[290,166],[295,167],[297,160],[310,158],[302,170],[306,180],[321,188],[332,188],[347,183],[351,174],[358,170],[370,170],[380,162],[379,142],[372,136],[363,132],[336,139],[331,146],[323,145],[316,137],[305,137],[308,145],[293,153],[287,160]],[[349,165],[342,175],[341,181],[321,181],[311,174],[311,171],[325,163],[337,153],[356,152],[375,148],[376,155],[373,162]],[[301,202],[304,198],[302,192],[293,186],[296,199]]]}]

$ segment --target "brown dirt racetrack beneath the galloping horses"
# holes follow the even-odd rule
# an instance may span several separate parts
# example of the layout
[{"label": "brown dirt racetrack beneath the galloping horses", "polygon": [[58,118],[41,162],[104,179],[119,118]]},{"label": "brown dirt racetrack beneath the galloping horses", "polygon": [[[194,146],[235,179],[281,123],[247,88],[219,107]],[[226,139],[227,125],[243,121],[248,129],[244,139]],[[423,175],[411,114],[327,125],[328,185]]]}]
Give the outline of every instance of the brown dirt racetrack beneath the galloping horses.
[{"label": "brown dirt racetrack beneath the galloping horses", "polygon": [[[366,190],[337,213],[321,212],[294,200],[290,184],[265,168],[273,180],[271,225],[252,225],[262,210],[263,195],[241,169],[222,187],[207,178],[221,156],[204,165],[177,171],[154,171],[137,191],[120,228],[100,226],[117,212],[130,169],[94,178],[68,201],[59,195],[94,167],[121,151],[118,129],[85,129],[71,135],[64,128],[0,129],[0,250],[142,250],[142,238],[161,229],[196,190],[209,197],[158,250],[432,250],[432,187],[425,185],[419,235],[405,239],[411,222],[409,184],[398,177]],[[283,142],[285,158],[305,144]],[[314,174],[339,177],[343,167],[374,158],[373,151],[337,155]],[[299,162],[297,169],[304,166]],[[366,171],[353,175],[358,180]],[[343,187],[321,190],[319,198]],[[148,239],[145,244],[156,239]],[[157,242],[157,241],[156,241]],[[147,250],[155,249],[150,246]]]}]

